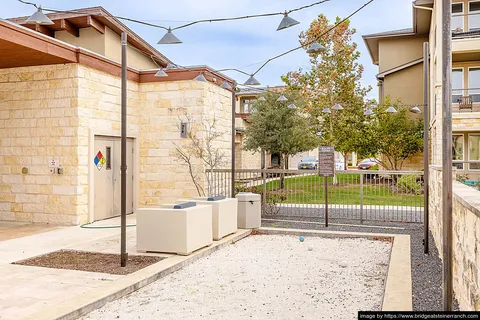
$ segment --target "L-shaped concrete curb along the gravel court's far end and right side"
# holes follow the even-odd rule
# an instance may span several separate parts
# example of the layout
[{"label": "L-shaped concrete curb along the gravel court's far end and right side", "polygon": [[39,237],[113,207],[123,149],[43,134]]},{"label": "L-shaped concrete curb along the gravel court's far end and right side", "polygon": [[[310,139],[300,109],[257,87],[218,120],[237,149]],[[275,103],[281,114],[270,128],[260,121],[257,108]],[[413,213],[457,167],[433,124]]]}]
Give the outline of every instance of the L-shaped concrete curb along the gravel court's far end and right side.
[{"label": "L-shaped concrete curb along the gravel court's far end and right side", "polygon": [[316,237],[366,238],[392,240],[382,311],[412,311],[412,265],[410,236],[404,234],[363,233],[348,231],[323,231],[285,228],[260,228],[260,234],[289,234]]}]

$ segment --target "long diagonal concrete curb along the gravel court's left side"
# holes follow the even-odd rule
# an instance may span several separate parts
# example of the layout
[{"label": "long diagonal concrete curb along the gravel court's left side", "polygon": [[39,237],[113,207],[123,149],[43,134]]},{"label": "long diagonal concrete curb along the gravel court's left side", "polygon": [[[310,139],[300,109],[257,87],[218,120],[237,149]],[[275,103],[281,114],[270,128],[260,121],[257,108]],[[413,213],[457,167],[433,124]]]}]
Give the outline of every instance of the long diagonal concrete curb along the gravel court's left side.
[{"label": "long diagonal concrete curb along the gravel court's left side", "polygon": [[236,233],[216,241],[212,246],[200,249],[190,256],[173,256],[149,267],[121,277],[101,288],[91,290],[80,296],[66,300],[58,305],[44,309],[24,319],[28,320],[71,320],[81,317],[108,302],[121,298],[166,275],[173,273],[192,262],[208,256],[212,252],[249,236],[251,230],[239,229]]}]

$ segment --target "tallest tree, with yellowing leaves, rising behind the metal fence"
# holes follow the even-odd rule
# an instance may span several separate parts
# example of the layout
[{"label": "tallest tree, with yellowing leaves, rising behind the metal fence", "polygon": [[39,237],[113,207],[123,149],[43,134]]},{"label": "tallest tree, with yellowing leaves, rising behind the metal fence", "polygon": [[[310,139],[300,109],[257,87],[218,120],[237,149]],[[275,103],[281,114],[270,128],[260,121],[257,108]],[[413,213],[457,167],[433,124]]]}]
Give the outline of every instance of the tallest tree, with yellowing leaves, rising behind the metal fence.
[{"label": "tallest tree, with yellowing leaves, rising behind the metal fence", "polygon": [[[340,18],[337,17],[335,23]],[[356,30],[347,20],[331,32],[332,24],[323,15],[300,34],[300,43],[308,47],[317,40],[326,50],[310,54],[310,67],[289,72],[282,79],[290,90],[299,92],[306,100],[305,110],[319,119],[317,126],[322,143],[335,146],[343,153],[346,165],[348,152],[359,151],[359,140],[365,131],[364,99],[371,90],[360,79],[363,66],[358,63],[360,52],[352,41]],[[322,110],[340,104],[344,109],[325,116]]]}]

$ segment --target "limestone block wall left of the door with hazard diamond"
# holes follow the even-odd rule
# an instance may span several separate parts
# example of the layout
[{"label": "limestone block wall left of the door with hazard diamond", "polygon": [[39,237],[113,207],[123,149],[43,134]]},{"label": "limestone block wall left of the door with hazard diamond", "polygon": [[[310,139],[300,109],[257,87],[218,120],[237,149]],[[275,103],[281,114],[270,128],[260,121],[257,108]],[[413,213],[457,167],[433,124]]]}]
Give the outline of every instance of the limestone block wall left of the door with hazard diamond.
[{"label": "limestone block wall left of the door with hazard diamond", "polygon": [[79,223],[77,75],[74,64],[0,69],[0,220]]}]

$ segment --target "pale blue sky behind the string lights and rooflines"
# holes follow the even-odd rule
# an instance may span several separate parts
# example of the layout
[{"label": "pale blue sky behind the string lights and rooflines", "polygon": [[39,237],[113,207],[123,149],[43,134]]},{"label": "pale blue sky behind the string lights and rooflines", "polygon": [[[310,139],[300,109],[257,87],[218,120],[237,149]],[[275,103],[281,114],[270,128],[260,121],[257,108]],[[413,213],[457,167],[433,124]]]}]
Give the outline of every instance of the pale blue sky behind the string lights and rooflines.
[{"label": "pale blue sky behind the string lights and rooflines", "polygon": [[[32,1],[32,0],[31,0]],[[126,16],[175,27],[199,19],[234,17],[257,13],[281,12],[316,0],[33,0],[39,5],[60,10],[103,6],[113,15]],[[41,1],[41,2],[40,2]],[[162,29],[125,22],[132,30],[154,45],[160,52],[181,65],[209,65],[214,69],[242,68],[254,72],[268,58],[298,46],[298,34],[308,28],[320,13],[330,20],[345,17],[367,0],[330,0],[324,4],[292,14],[301,24],[276,31],[280,16],[255,18],[241,21],[197,24],[175,32],[183,41],[180,45],[157,45],[163,36]],[[26,16],[34,8],[16,0],[2,0],[1,16],[9,18]],[[361,63],[365,67],[363,84],[371,85],[371,98],[377,97],[373,65],[361,38],[363,34],[412,26],[411,0],[374,0],[352,19],[357,29],[354,41],[361,52]],[[260,63],[259,63],[260,62]],[[257,63],[257,64],[254,64]],[[254,64],[254,65],[252,65]],[[248,66],[250,65],[250,66]],[[248,67],[245,67],[248,66]],[[291,70],[308,66],[308,57],[298,50],[270,62],[256,76],[262,85],[281,84],[280,76]],[[227,73],[244,82],[246,77],[238,73]]]}]

